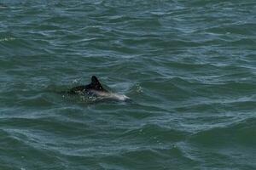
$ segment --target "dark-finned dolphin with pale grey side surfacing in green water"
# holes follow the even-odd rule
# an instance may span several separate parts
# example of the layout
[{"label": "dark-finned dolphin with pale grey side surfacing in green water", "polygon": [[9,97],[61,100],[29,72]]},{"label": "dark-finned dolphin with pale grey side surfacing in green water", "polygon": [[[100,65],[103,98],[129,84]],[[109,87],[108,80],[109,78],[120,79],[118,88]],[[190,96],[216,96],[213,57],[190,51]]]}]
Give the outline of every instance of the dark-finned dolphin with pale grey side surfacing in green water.
[{"label": "dark-finned dolphin with pale grey side surfacing in green water", "polygon": [[96,76],[91,77],[90,84],[71,88],[67,94],[87,94],[102,99],[118,99],[122,101],[130,99],[124,94],[114,94],[103,88]]}]

